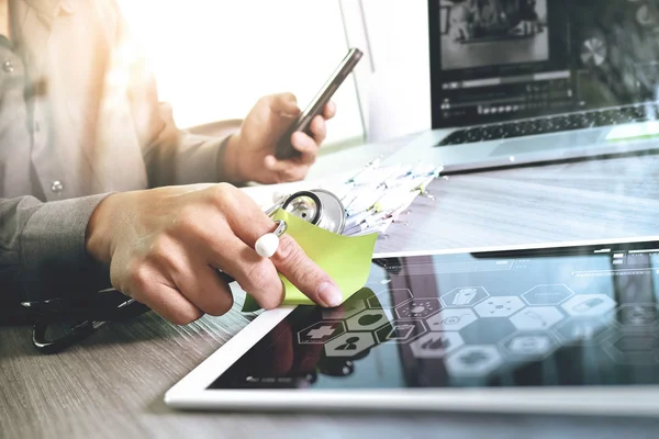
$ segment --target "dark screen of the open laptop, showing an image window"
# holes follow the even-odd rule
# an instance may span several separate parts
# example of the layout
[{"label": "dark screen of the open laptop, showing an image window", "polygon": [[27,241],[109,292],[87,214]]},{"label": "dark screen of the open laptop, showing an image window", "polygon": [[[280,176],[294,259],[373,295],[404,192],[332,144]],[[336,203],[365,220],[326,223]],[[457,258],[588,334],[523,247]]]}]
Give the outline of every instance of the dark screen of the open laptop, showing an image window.
[{"label": "dark screen of the open laptop, showing an image window", "polygon": [[657,0],[429,0],[433,127],[656,99]]}]

